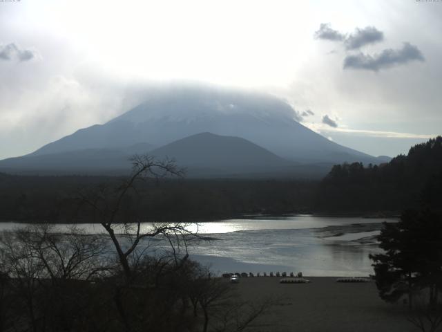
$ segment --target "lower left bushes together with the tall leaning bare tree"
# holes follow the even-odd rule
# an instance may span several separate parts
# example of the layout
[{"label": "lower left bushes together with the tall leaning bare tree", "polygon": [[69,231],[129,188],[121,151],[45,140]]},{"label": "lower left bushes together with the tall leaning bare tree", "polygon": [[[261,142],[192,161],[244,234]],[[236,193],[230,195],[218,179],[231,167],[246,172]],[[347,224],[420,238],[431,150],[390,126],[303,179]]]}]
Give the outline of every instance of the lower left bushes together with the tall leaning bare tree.
[{"label": "lower left bushes together with the tall leaning bare tree", "polygon": [[[85,214],[106,235],[48,223],[0,238],[0,331],[243,331],[271,304],[245,303],[231,284],[191,261],[198,235],[183,223],[141,228],[128,201],[144,176],[180,176],[173,163],[133,158],[133,174],[114,187],[81,192]],[[135,195],[136,196],[136,195]],[[127,217],[124,227],[118,221]],[[155,243],[169,250],[155,250]]]}]

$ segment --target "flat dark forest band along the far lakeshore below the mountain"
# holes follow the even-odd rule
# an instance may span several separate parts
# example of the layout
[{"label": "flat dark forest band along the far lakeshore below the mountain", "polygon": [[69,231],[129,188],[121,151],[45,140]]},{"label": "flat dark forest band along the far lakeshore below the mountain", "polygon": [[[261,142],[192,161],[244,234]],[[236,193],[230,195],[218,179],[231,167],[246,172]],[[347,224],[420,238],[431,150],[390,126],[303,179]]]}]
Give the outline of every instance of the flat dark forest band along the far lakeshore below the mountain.
[{"label": "flat dark forest band along the far lakeshore below the mountain", "polygon": [[[84,223],[81,192],[113,187],[124,178],[0,174],[0,221]],[[317,181],[272,179],[146,179],[124,204],[137,201],[146,221],[201,221],[241,214],[311,212]]]}]

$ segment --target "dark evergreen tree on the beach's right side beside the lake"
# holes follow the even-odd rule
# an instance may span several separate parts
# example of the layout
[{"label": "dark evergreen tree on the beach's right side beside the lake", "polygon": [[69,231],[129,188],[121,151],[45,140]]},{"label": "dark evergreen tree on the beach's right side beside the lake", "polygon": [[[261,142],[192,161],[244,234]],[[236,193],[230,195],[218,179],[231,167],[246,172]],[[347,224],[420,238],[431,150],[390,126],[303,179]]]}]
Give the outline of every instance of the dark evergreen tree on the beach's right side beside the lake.
[{"label": "dark evergreen tree on the beach's right side beside the lake", "polygon": [[398,223],[384,223],[378,237],[385,253],[370,255],[376,286],[387,302],[428,288],[429,304],[442,290],[442,217],[430,210],[407,210]]}]

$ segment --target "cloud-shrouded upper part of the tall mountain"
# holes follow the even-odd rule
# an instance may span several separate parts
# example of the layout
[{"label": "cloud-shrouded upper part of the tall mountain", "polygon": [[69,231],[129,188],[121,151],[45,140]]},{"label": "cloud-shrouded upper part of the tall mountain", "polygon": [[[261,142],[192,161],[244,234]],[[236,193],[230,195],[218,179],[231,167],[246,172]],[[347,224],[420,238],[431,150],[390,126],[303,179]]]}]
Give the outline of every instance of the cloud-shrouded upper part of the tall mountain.
[{"label": "cloud-shrouded upper part of the tall mountain", "polygon": [[198,122],[229,116],[292,122],[296,120],[296,111],[284,100],[265,93],[188,85],[151,89],[142,104],[110,122]]}]

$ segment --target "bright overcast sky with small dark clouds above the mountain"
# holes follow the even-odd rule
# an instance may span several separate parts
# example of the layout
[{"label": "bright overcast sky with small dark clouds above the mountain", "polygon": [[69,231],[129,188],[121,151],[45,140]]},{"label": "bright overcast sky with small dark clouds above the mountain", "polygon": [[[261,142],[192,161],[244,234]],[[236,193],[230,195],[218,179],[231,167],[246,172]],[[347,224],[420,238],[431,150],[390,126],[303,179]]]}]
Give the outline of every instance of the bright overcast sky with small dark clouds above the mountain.
[{"label": "bright overcast sky with small dark clouds above the mountain", "polygon": [[0,1],[0,158],[176,80],[277,95],[323,136],[396,156],[442,134],[441,31],[441,1]]}]

